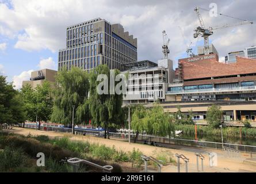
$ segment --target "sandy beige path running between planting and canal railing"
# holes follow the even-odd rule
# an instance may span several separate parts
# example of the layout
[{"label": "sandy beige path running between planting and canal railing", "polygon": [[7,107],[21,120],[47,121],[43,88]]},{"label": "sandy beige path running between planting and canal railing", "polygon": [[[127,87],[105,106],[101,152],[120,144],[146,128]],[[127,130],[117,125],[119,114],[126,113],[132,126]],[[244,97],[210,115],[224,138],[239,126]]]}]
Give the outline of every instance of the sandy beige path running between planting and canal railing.
[{"label": "sandy beige path running between planting and canal railing", "polygon": [[[204,166],[205,171],[212,172],[212,170],[209,168],[209,157],[208,152],[216,152],[218,155],[218,163],[217,167],[214,167],[216,171],[236,171],[239,170],[245,170],[245,171],[254,171],[256,172],[256,166],[244,164],[243,161],[248,158],[248,154],[241,154],[240,158],[226,158],[223,155],[222,151],[216,151],[216,150],[202,150],[200,148],[190,148],[190,147],[184,147],[184,148],[177,148],[177,146],[173,145],[171,148],[161,148],[161,147],[152,147],[151,145],[144,145],[144,144],[136,144],[131,143],[129,144],[128,141],[125,140],[114,140],[114,139],[102,139],[98,137],[92,137],[92,136],[80,136],[75,135],[71,136],[71,134],[67,133],[60,133],[60,132],[45,132],[45,131],[36,131],[35,129],[25,129],[25,128],[14,128],[12,130],[8,130],[13,133],[18,133],[21,135],[28,135],[29,133],[33,136],[35,135],[47,135],[49,137],[63,137],[63,136],[70,136],[71,140],[79,140],[79,141],[88,141],[89,143],[98,143],[98,144],[105,144],[108,147],[114,147],[117,150],[123,150],[123,151],[132,151],[133,148],[139,149],[143,152],[144,155],[147,156],[155,156],[157,153],[161,151],[166,151],[170,153],[170,156],[175,159],[175,154],[184,154],[186,157],[188,157],[189,164],[194,167],[196,166],[196,156],[194,155],[194,152],[201,152],[202,155],[205,156]],[[246,157],[247,156],[247,157]],[[173,168],[164,167],[162,171],[165,172],[173,172]]]}]

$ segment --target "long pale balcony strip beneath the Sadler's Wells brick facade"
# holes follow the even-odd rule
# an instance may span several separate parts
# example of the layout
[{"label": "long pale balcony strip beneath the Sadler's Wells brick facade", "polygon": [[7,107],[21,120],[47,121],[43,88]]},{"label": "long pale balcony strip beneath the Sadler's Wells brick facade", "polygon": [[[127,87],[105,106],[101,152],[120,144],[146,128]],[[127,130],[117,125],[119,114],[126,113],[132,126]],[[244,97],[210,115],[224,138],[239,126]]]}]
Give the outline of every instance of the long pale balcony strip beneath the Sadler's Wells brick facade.
[{"label": "long pale balcony strip beneath the Sadler's Wells brick facade", "polygon": [[232,92],[232,91],[250,91],[256,90],[256,86],[229,87],[229,88],[209,88],[194,90],[167,91],[166,94],[186,94],[186,93],[208,93],[208,92]]}]

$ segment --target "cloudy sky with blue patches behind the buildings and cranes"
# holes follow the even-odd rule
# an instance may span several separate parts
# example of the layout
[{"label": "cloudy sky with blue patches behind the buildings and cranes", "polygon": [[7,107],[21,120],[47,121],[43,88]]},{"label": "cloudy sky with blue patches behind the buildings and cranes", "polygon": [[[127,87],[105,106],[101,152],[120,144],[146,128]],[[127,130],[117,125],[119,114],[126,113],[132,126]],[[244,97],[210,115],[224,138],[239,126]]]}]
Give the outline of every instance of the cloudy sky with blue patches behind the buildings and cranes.
[{"label": "cloudy sky with blue patches behind the buildings and cranes", "polygon": [[[57,70],[58,50],[64,48],[66,27],[101,17],[110,23],[120,23],[138,39],[138,59],[156,62],[162,58],[162,30],[170,38],[170,59],[175,62],[186,56],[192,42],[194,52],[202,38],[193,39],[198,24],[194,7],[254,21],[256,1],[170,1],[170,0],[0,0],[0,74],[14,82],[17,88],[30,72],[41,68]],[[234,24],[234,18],[210,17],[201,11],[206,27]],[[242,25],[215,30],[210,41],[221,60],[231,51],[256,45],[256,27]]]}]

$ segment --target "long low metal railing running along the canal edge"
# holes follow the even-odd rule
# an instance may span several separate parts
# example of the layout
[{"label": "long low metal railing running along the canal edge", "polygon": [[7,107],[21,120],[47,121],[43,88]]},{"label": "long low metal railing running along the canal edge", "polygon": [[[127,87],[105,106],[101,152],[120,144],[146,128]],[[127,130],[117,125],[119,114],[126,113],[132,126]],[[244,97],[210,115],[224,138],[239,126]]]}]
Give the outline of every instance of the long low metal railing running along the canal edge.
[{"label": "long low metal railing running along the canal edge", "polygon": [[[18,127],[18,125],[16,125]],[[25,128],[36,128],[36,125],[25,125]],[[71,128],[60,128],[60,127],[44,127],[41,126],[41,130],[44,131],[55,131],[55,132],[72,132]],[[75,132],[79,135],[89,135],[89,136],[97,136],[104,137],[104,132],[102,131],[88,131],[82,129],[75,129]],[[115,139],[125,139],[128,140],[128,133],[109,133],[109,137]],[[131,141],[135,140],[135,133],[131,133]],[[158,143],[159,146],[165,147],[166,145],[174,144],[174,145],[183,145],[183,146],[192,146],[192,147],[200,147],[200,148],[211,148],[215,150],[223,150],[223,147],[228,147],[232,149],[236,149],[240,152],[245,153],[253,153],[256,154],[256,146],[254,145],[243,145],[243,144],[231,144],[231,143],[217,143],[212,141],[198,141],[198,140],[189,140],[189,139],[176,139],[176,138],[167,138],[167,137],[158,137],[158,136],[150,136],[150,135],[139,135],[137,136],[137,142],[144,143],[153,142]],[[154,144],[156,145],[156,144]]]}]

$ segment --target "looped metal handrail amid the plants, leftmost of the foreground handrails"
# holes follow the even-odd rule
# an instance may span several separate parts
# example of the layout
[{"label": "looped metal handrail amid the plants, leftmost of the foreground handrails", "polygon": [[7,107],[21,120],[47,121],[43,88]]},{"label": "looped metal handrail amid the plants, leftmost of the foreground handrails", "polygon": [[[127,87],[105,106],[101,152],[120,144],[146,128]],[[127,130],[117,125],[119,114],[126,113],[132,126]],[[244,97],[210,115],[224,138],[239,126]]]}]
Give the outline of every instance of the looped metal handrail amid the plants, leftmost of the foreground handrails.
[{"label": "looped metal handrail amid the plants, leftmost of the foreground handrails", "polygon": [[74,173],[78,172],[80,163],[84,163],[84,164],[87,164],[89,166],[98,168],[98,169],[102,170],[105,173],[111,173],[111,171],[113,170],[112,166],[100,166],[98,164],[89,162],[87,160],[79,159],[79,158],[71,158],[71,159],[68,159],[67,162],[73,166]]}]

